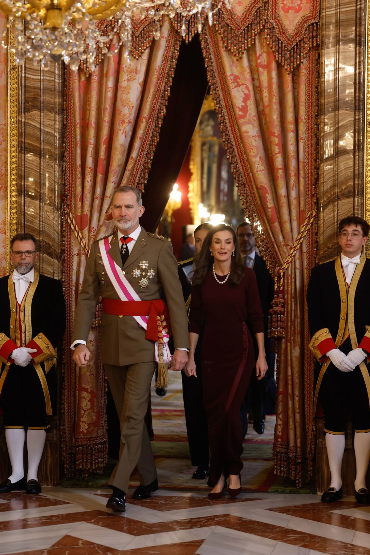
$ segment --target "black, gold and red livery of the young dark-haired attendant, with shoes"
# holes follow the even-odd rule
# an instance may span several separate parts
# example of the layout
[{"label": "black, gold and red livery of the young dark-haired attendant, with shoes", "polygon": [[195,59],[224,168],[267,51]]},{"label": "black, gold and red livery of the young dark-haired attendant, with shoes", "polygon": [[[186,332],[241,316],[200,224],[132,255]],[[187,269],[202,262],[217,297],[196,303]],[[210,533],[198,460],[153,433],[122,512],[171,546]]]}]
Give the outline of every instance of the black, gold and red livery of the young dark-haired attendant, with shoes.
[{"label": "black, gold and red livery of the young dark-haired attendant, with shoes", "polygon": [[[331,435],[330,439],[333,436],[344,437],[349,409],[355,432],[356,452],[356,440],[361,447],[360,436],[370,432],[369,359],[365,358],[353,371],[339,370],[326,354],[333,349],[339,349],[347,355],[358,347],[367,354],[370,352],[370,260],[363,254],[358,255],[356,259],[344,258],[346,259],[343,260],[344,265],[348,265],[351,261],[353,265],[356,264],[350,285],[347,283],[348,277],[346,281],[341,256],[316,266],[311,271],[307,290],[308,321],[312,338],[309,347],[317,359],[314,413],[320,401],[324,412],[324,431],[327,435]],[[331,443],[333,452],[329,461],[331,458],[332,461],[336,459],[339,461],[339,470],[336,471],[339,481],[343,452],[336,447],[339,443],[334,441],[334,438]],[[344,440],[341,449],[344,450]],[[357,457],[356,452],[356,460]],[[367,460],[367,457],[368,455],[364,453],[364,459]],[[333,475],[332,467],[331,471]],[[358,471],[359,461],[357,460]],[[366,475],[366,468],[362,473]],[[361,503],[368,502],[366,501],[367,491],[364,490],[361,493],[364,494],[363,501],[357,500]],[[336,501],[341,497],[341,490],[336,491],[336,487],[332,486],[324,496],[326,498],[322,498],[322,501]],[[356,492],[357,497],[358,492]]]}]

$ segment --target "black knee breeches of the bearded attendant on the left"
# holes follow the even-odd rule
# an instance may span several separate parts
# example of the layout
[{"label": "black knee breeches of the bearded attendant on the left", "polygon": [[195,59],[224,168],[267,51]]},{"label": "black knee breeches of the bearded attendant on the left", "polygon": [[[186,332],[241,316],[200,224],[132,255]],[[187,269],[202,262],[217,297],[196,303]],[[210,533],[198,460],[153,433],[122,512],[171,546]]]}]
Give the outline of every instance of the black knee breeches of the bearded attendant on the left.
[{"label": "black knee breeches of the bearded attendant on the left", "polygon": [[[56,413],[57,375],[53,366],[46,376],[52,411]],[[4,412],[6,428],[33,428],[35,430],[48,427],[45,396],[41,381],[32,364],[18,366],[12,364],[4,381],[0,398],[0,406]]]}]

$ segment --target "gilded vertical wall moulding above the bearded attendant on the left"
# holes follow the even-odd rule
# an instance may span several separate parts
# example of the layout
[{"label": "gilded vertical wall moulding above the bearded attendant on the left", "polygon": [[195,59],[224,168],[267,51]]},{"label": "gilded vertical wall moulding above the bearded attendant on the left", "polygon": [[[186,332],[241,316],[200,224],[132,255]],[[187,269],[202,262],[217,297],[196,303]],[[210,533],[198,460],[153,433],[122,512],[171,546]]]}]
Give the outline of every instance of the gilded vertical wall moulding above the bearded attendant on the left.
[{"label": "gilded vertical wall moulding above the bearded attendant on the left", "polygon": [[10,241],[17,233],[17,73],[15,40],[11,29],[7,33],[7,273],[10,273]]}]

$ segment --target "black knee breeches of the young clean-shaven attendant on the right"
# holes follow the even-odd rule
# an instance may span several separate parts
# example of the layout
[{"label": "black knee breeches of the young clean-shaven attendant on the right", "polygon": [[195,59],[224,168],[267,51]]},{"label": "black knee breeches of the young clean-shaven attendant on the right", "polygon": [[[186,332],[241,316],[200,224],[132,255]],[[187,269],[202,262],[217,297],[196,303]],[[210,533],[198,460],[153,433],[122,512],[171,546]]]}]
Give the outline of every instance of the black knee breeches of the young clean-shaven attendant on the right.
[{"label": "black knee breeches of the young clean-shaven attendant on the right", "polygon": [[320,401],[326,432],[343,434],[348,412],[354,431],[370,432],[369,398],[359,366],[353,372],[342,372],[329,364],[320,386]]}]

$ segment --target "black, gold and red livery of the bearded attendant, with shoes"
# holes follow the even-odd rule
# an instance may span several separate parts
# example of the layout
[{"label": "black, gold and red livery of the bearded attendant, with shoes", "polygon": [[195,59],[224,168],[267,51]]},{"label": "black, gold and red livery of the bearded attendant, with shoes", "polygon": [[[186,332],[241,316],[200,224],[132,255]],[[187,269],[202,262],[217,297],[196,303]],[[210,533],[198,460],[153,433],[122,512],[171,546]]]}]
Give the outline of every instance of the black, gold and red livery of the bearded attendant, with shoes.
[{"label": "black, gold and red livery of the bearded attendant, with shoes", "polygon": [[[27,432],[28,468],[31,458],[37,456],[36,443],[40,433],[33,431],[46,430],[48,416],[56,413],[57,379],[56,379],[56,347],[62,340],[66,328],[66,304],[64,302],[62,284],[59,280],[38,274],[32,269],[29,274],[17,279],[26,279],[28,288],[23,299],[17,299],[13,274],[0,279],[0,406],[4,414],[6,430],[21,431],[18,433],[19,449],[7,444],[11,455],[12,467],[18,466],[23,473],[24,428]],[[34,349],[32,361],[27,366],[18,366],[10,358],[12,351],[18,347]],[[29,439],[32,438],[32,441]],[[41,434],[44,441],[44,435]],[[39,457],[41,457],[43,443]],[[14,450],[11,453],[10,450]],[[17,460],[19,458],[19,460]],[[39,493],[41,488],[37,482],[36,462],[34,477],[27,493]],[[13,473],[14,473],[13,468]],[[26,490],[24,478],[14,487],[10,481],[0,486],[0,491],[14,489]]]}]

